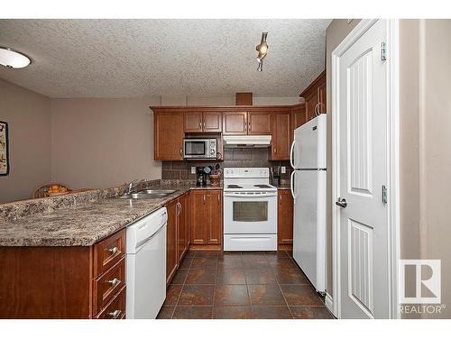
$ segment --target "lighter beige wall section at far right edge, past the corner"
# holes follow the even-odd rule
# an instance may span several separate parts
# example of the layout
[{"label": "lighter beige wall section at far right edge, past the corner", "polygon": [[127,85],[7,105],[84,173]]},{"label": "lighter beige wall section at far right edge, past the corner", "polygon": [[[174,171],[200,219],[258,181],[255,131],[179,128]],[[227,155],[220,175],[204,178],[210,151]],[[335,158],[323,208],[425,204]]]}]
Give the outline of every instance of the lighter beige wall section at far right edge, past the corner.
[{"label": "lighter beige wall section at far right edge, past the corner", "polygon": [[421,258],[441,260],[443,318],[451,318],[450,35],[451,20],[419,21],[419,131],[410,134],[419,138]]}]

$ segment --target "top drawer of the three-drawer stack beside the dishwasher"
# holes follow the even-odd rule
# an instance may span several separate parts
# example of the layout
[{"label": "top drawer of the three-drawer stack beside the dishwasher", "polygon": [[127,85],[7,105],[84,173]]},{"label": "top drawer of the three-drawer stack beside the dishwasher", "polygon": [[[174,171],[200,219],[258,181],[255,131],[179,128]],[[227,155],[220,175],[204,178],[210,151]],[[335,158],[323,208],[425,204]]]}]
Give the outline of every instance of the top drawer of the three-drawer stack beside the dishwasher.
[{"label": "top drawer of the three-drawer stack beside the dishwasher", "polygon": [[125,229],[94,245],[94,277],[110,269],[124,256]]}]

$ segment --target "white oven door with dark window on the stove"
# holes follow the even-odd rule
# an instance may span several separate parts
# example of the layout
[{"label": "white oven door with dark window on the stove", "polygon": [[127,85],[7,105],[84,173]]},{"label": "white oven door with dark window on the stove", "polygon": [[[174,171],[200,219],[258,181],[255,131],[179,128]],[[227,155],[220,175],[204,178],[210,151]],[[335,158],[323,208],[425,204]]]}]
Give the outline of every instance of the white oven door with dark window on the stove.
[{"label": "white oven door with dark window on the stove", "polygon": [[225,192],[224,233],[277,233],[277,192]]}]

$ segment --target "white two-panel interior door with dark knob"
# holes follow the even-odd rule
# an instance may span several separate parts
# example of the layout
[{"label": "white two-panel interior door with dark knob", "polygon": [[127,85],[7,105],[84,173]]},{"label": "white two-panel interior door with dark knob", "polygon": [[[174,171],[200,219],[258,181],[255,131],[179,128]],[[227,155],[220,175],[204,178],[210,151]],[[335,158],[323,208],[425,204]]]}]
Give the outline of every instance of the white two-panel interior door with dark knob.
[{"label": "white two-panel interior door with dark knob", "polygon": [[[379,20],[339,57],[337,196],[342,318],[389,316],[386,23]],[[343,205],[343,203],[342,203]]]}]

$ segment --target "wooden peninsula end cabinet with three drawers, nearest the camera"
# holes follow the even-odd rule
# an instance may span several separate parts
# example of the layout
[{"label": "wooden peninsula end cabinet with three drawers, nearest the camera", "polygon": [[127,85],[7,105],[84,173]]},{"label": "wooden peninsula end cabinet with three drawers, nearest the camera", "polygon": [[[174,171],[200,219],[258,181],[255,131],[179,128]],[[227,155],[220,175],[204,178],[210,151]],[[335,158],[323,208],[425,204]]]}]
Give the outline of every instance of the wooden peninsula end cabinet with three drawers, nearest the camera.
[{"label": "wooden peninsula end cabinet with three drawers, nearest the camera", "polygon": [[125,229],[92,246],[0,247],[0,286],[0,318],[124,318]]}]

